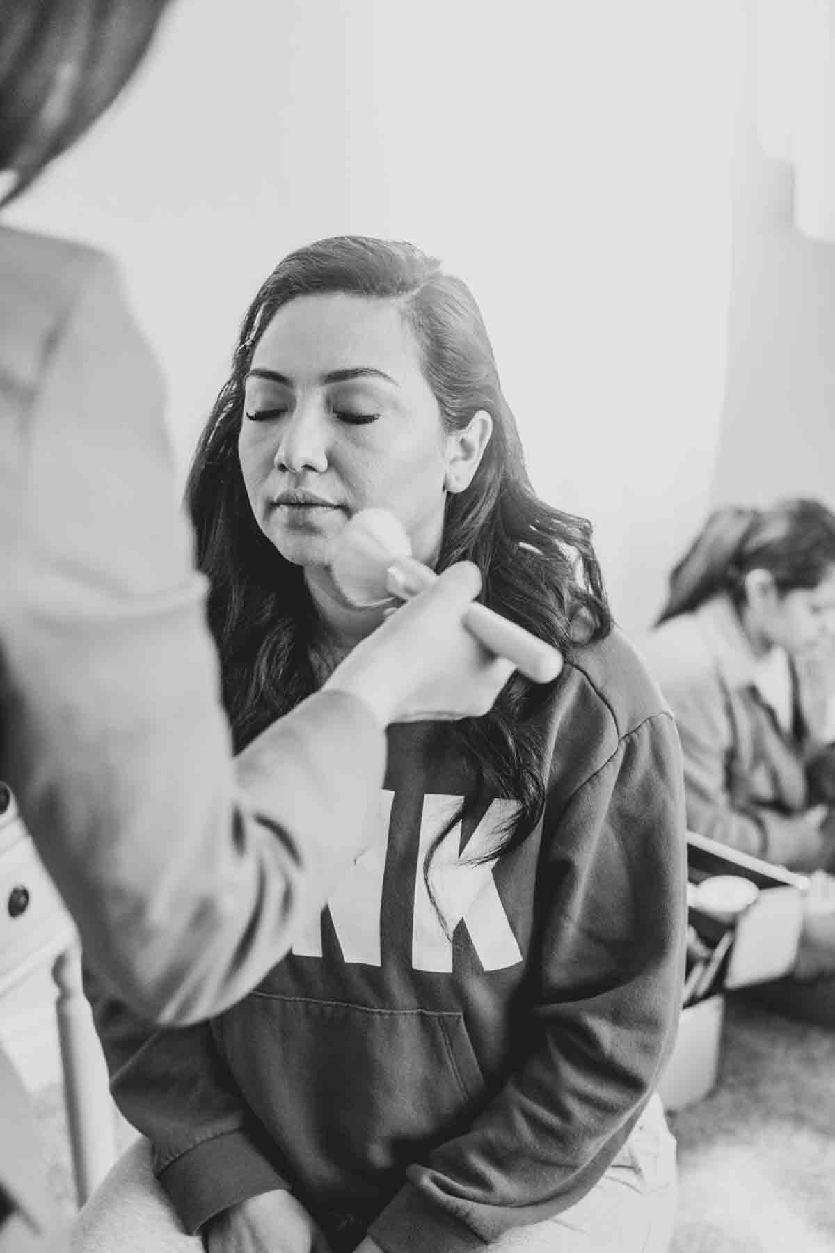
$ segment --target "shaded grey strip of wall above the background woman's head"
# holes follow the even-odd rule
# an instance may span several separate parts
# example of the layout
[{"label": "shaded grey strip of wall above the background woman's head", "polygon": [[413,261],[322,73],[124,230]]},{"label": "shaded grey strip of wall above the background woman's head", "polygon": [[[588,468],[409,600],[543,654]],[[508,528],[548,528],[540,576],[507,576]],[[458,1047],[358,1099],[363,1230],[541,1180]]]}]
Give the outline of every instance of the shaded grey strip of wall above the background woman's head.
[{"label": "shaded grey strip of wall above the background woman's head", "polygon": [[751,73],[711,499],[766,505],[806,495],[835,507],[835,244],[795,228],[792,173],[760,148],[755,91]]}]

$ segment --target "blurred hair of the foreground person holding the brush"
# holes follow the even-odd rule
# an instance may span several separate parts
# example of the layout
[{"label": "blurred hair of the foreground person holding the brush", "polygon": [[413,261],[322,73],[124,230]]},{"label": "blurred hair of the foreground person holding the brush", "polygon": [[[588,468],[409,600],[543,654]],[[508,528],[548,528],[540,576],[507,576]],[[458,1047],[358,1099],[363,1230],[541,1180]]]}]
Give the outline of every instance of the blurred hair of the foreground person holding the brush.
[{"label": "blurred hair of the foreground person holding the brush", "polygon": [[3,0],[0,170],[19,195],[113,104],[170,0]]}]

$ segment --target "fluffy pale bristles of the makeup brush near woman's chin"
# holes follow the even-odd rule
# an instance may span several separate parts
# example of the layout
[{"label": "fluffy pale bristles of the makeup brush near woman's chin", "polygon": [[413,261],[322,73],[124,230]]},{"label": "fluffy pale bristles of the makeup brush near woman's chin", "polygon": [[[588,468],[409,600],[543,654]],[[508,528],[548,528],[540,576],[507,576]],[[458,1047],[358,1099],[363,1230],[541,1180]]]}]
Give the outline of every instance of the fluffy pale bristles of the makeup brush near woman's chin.
[{"label": "fluffy pale bristles of the makeup brush near woman's chin", "polygon": [[339,536],[330,573],[354,605],[391,600],[386,574],[398,556],[409,556],[412,545],[402,523],[387,509],[354,514]]}]

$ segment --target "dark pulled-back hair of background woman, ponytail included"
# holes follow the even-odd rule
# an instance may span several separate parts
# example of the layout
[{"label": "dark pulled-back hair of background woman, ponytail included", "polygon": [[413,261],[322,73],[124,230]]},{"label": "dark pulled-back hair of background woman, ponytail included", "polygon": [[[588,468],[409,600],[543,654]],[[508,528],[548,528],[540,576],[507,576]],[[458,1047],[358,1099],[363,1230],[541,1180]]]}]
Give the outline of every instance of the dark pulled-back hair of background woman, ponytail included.
[{"label": "dark pulled-back hair of background woman, ponytail included", "polygon": [[770,509],[715,510],[670,575],[658,625],[727,593],[737,608],[745,575],[767,570],[781,595],[816,588],[835,566],[835,514],[816,500],[784,500]]}]

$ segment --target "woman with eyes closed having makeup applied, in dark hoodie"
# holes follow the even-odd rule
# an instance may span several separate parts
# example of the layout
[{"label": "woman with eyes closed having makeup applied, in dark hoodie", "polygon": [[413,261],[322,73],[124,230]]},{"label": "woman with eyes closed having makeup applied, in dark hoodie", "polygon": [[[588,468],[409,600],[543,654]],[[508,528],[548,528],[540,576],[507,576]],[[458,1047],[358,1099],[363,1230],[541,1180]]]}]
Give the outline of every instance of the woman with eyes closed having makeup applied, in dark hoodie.
[{"label": "woman with eyes closed having makeup applied, in dark hoodie", "polygon": [[389,729],[371,848],[240,1005],[151,1031],[90,981],[146,1139],[76,1250],[666,1248],[677,738],[612,626],[590,525],[531,487],[468,288],[404,243],[282,261],[188,501],[239,748],[384,615],[330,571],[367,506],[436,570],[473,561],[482,599],[566,664],[513,674],[479,718]]}]

